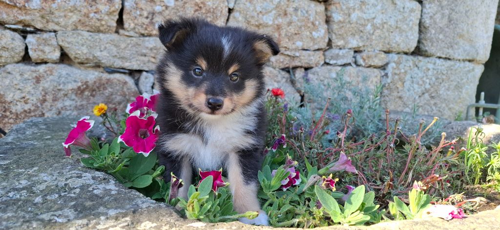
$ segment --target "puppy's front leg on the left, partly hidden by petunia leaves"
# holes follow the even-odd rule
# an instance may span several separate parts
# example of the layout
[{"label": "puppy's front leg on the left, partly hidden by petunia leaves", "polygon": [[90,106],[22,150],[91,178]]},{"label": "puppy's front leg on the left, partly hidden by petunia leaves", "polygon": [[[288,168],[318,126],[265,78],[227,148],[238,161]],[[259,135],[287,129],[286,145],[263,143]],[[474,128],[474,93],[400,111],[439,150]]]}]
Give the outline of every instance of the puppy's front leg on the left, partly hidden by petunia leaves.
[{"label": "puppy's front leg on the left, partly hidden by petunia leaves", "polygon": [[163,179],[165,183],[169,182],[171,179],[170,173],[173,173],[176,177],[184,181],[184,186],[179,189],[177,197],[181,197],[187,200],[187,191],[191,185],[192,180],[192,166],[189,162],[188,157],[172,158],[171,154],[168,152],[159,152],[159,164],[165,166],[165,173],[163,174]]}]

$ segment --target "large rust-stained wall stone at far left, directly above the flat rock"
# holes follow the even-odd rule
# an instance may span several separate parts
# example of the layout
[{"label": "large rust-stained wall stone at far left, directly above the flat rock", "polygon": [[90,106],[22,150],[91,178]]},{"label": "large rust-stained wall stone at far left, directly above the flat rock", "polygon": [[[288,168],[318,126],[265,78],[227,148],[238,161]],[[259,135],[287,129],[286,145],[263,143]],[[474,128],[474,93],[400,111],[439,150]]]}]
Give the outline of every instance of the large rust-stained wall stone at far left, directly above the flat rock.
[{"label": "large rust-stained wall stone at far left, directly above the flat rock", "polygon": [[65,64],[9,64],[0,68],[0,124],[8,130],[30,117],[90,115],[98,103],[124,111],[138,95],[124,74]]}]

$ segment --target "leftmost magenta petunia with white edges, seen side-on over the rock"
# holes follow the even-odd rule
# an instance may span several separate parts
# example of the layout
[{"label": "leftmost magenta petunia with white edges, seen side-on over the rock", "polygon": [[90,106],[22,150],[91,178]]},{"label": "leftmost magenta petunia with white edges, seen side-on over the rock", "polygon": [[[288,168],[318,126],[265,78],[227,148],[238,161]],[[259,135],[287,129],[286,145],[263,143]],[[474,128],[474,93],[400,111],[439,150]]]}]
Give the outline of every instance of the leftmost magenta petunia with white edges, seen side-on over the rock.
[{"label": "leftmost magenta petunia with white edges, seen side-on over the rock", "polygon": [[88,120],[90,117],[82,117],[76,122],[76,127],[69,131],[66,140],[62,143],[66,157],[71,156],[69,145],[75,145],[86,150],[90,150],[90,140],[85,135],[85,132],[92,128],[94,121]]}]

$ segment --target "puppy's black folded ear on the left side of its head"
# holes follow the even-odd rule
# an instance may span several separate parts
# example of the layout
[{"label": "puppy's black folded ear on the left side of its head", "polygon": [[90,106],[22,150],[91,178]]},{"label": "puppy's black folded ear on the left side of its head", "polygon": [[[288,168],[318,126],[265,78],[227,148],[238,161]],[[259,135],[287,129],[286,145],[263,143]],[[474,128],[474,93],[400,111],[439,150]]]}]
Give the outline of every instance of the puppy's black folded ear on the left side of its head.
[{"label": "puppy's black folded ear on the left side of its head", "polygon": [[189,33],[195,29],[195,22],[191,19],[164,20],[158,24],[158,37],[167,49],[174,49],[182,44]]}]

